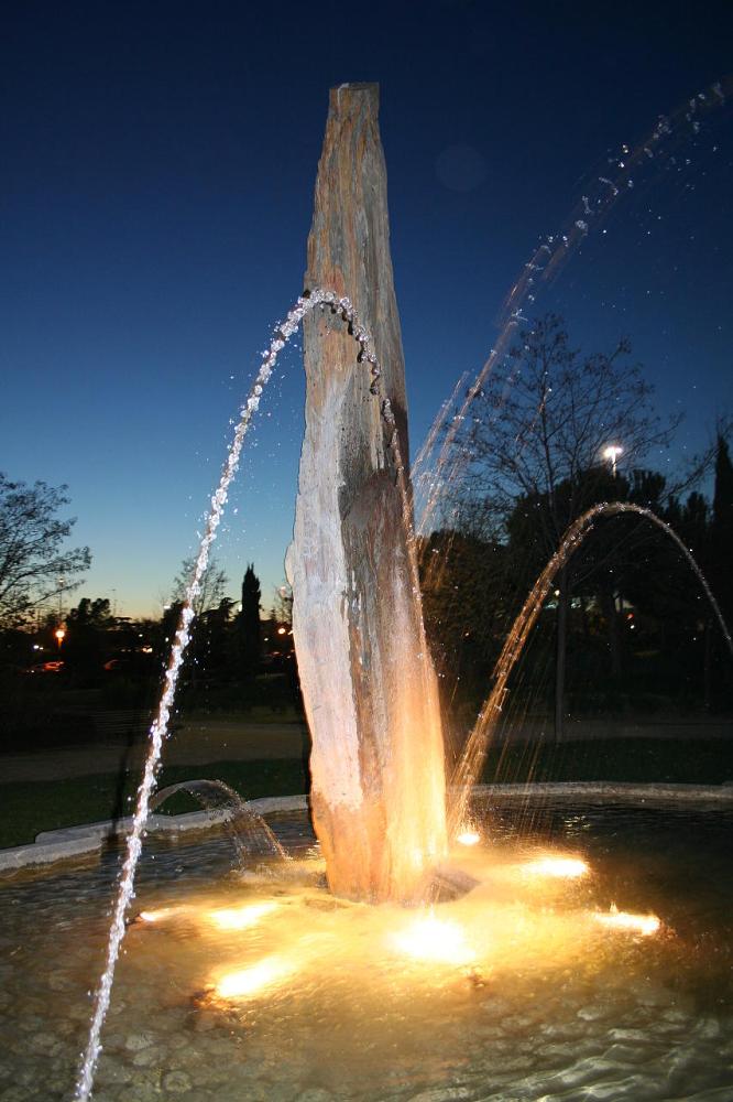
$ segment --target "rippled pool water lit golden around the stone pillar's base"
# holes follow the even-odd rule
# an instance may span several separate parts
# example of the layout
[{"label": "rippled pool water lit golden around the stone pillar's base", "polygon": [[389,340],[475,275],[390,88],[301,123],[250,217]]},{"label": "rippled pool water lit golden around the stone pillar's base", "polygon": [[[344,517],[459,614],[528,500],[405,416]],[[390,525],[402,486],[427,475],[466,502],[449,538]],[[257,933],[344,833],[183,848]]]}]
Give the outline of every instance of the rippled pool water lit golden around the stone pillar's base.
[{"label": "rippled pool water lit golden around the stone pillar's base", "polygon": [[[95,1099],[733,1099],[733,814],[477,813],[491,844],[457,860],[483,884],[435,908],[466,931],[457,961],[406,957],[415,915],[337,904],[315,861],[242,880],[225,839],[147,852],[135,909],[185,909],[129,932]],[[305,855],[303,818],[271,823]],[[532,880],[547,845],[592,874]],[[0,1100],[72,1095],[118,865],[0,882]],[[207,918],[252,901],[272,909],[247,929]],[[609,933],[590,919],[611,904],[663,930]],[[274,958],[289,972],[265,991],[212,991]]]}]

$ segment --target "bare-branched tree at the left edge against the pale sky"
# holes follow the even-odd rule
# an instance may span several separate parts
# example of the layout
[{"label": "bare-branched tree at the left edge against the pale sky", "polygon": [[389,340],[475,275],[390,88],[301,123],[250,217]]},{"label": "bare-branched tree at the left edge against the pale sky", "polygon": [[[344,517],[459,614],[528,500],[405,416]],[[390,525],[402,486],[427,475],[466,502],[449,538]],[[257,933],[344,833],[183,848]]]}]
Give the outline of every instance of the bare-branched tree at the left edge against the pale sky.
[{"label": "bare-branched tree at the left edge against the pale sky", "polygon": [[66,550],[76,523],[56,514],[69,504],[67,486],[32,486],[0,473],[0,626],[21,624],[42,602],[80,584],[89,548]]}]

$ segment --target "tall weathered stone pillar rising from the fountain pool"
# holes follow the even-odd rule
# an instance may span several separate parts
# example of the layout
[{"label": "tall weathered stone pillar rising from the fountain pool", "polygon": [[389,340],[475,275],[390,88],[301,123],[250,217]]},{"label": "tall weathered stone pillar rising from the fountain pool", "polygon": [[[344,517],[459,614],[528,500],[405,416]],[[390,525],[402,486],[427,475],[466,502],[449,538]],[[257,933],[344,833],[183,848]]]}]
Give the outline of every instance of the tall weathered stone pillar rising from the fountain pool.
[{"label": "tall weathered stone pillar rising from the fountain pool", "polygon": [[383,375],[344,323],[305,322],[306,432],[287,572],[308,725],[314,822],[331,889],[415,894],[446,847],[442,736],[405,518],[412,503],[400,320],[375,85],[332,89],[306,289],[347,295]]}]

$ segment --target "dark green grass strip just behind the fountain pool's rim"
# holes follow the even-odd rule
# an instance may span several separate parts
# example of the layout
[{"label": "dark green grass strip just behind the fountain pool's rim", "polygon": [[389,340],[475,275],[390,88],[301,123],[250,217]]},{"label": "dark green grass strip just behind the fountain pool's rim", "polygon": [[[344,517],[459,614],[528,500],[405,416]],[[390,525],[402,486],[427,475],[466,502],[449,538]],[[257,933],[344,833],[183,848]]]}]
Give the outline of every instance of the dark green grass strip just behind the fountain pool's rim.
[{"label": "dark green grass strip just behind the fountain pool's rim", "polygon": [[[226,781],[244,799],[289,796],[305,792],[307,787],[303,764],[292,760],[168,766],[161,773],[158,787],[204,777]],[[538,743],[495,747],[481,779],[500,784],[606,780],[720,785],[733,781],[733,738],[595,738],[559,746]],[[139,782],[138,774],[122,778],[98,774],[2,785],[0,847],[32,842],[41,831],[127,814],[132,808],[128,797],[134,798]],[[180,795],[163,810],[175,813],[197,807],[190,797]]]}]

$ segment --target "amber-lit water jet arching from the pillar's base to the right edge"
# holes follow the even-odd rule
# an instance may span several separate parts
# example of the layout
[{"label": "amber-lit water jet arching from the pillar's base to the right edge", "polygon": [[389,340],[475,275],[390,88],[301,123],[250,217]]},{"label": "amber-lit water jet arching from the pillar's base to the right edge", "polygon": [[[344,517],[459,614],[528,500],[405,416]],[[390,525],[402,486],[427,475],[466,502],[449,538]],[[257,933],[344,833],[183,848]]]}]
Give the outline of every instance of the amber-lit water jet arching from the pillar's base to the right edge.
[{"label": "amber-lit water jet arching from the pillar's base to the right edge", "polygon": [[704,574],[696,562],[692,552],[689,548],[685,547],[677,532],[664,520],[657,517],[656,514],[652,512],[650,509],[645,509],[641,505],[632,505],[626,501],[603,501],[599,505],[592,506],[582,515],[582,517],[579,517],[578,520],[576,520],[568,528],[559,548],[532,587],[529,596],[522,606],[522,609],[512,625],[512,630],[506,637],[502,652],[496,660],[496,665],[494,666],[492,674],[494,681],[493,689],[483,704],[483,707],[479,712],[473,730],[468,737],[463,753],[461,754],[451,777],[451,806],[448,813],[449,838],[456,836],[460,824],[466,818],[466,810],[471,787],[483,766],[491,736],[493,735],[496,723],[499,722],[502,713],[502,705],[506,696],[510,674],[514,669],[519,655],[522,653],[524,645],[527,641],[527,636],[537,622],[537,617],[539,616],[540,609],[547,599],[547,595],[549,594],[558,571],[562,570],[570,559],[570,555],[578,550],[582,541],[592,530],[597,520],[602,517],[615,517],[623,514],[633,514],[650,521],[677,545],[689,563],[708,601],[710,602],[710,606],[718,619],[720,629],[723,633],[731,657],[733,658],[733,639],[731,639],[731,633],[727,628],[727,624],[723,619],[723,614],[721,613],[718,602],[713,596]]}]

